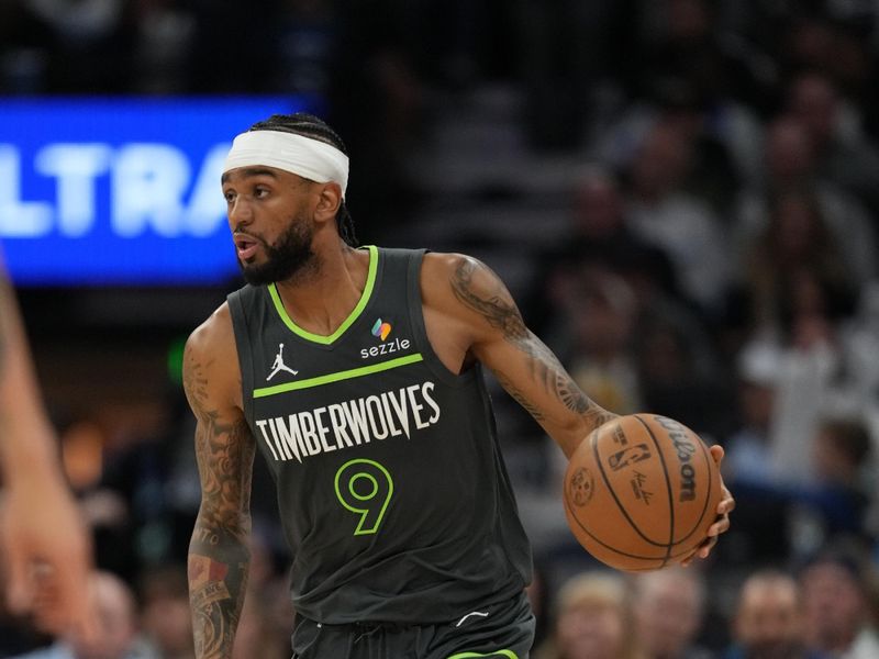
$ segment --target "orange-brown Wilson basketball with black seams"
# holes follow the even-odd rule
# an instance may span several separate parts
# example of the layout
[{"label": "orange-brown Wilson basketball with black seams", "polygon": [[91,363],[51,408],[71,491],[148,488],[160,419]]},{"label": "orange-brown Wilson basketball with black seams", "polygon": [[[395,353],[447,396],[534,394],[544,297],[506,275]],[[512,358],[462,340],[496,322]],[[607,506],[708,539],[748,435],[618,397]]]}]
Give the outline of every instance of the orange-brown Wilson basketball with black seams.
[{"label": "orange-brown Wilson basketball with black seams", "polygon": [[720,501],[720,472],[702,439],[656,414],[596,428],[565,472],[574,536],[617,570],[656,570],[686,558],[705,539]]}]

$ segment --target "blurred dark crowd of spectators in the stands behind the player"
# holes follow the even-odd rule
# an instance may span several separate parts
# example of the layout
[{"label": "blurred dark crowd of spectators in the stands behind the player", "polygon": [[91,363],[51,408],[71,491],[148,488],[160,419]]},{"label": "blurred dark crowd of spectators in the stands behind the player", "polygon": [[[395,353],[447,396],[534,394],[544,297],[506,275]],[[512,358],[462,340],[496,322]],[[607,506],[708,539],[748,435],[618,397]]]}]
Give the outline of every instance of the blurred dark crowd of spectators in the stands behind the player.
[{"label": "blurred dark crowd of spectators in the stands behind the player", "polygon": [[[408,154],[480,86],[523,99],[528,153],[582,165],[564,235],[521,247],[523,314],[605,407],[724,446],[738,505],[687,570],[623,576],[536,541],[536,659],[879,658],[877,82],[867,0],[0,1],[0,93],[321,99],[367,239],[418,225],[436,186]],[[107,647],[0,612],[0,657],[192,656],[192,421],[179,391],[167,407],[125,440],[57,416]],[[499,405],[501,427],[514,414]],[[292,612],[260,470],[240,657],[268,659],[289,656]]]}]

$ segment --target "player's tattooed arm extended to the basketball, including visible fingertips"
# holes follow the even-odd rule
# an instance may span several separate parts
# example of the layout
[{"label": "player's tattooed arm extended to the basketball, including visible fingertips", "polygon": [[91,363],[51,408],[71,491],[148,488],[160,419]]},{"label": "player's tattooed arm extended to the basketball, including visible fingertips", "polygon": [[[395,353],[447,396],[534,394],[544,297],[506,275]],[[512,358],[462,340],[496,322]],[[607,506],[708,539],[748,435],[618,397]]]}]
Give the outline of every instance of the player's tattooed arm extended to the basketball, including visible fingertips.
[{"label": "player's tattooed arm extended to the basketball, including visible fingertips", "polygon": [[[478,360],[570,458],[580,443],[616,414],[580,390],[553,351],[525,325],[510,291],[485,264],[463,255],[425,257],[425,304],[438,308],[446,325],[463,336],[465,364]],[[720,463],[723,448],[711,455]],[[724,487],[717,522],[697,554],[708,556],[716,536],[730,526],[735,502]]]}]

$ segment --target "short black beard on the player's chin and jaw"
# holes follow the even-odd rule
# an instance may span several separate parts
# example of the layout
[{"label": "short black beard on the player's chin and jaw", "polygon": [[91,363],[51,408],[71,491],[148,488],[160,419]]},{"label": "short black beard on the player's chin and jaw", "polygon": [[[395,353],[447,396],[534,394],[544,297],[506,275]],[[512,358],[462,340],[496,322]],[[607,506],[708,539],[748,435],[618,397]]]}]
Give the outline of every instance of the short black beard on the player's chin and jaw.
[{"label": "short black beard on the player's chin and jaw", "polygon": [[311,249],[314,227],[301,215],[293,217],[287,231],[274,245],[269,245],[252,234],[248,235],[260,241],[266,252],[266,260],[263,264],[242,263],[238,259],[238,267],[244,280],[251,286],[264,286],[301,278],[318,266],[316,255]]}]

